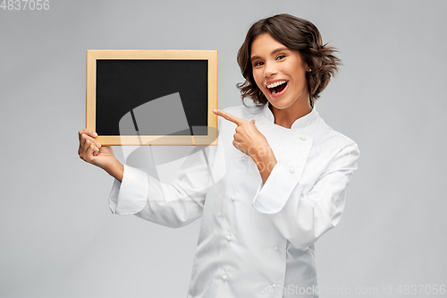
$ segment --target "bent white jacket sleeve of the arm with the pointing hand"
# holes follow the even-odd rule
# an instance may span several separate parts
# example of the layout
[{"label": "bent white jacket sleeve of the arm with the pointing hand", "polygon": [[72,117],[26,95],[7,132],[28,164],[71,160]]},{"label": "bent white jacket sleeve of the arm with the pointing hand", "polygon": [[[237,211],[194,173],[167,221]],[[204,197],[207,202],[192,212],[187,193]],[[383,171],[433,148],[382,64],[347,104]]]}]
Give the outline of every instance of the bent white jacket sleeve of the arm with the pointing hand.
[{"label": "bent white jacket sleeve of the arm with the pointing hand", "polygon": [[266,184],[259,185],[253,207],[266,214],[294,246],[306,248],[340,221],[358,157],[355,143],[340,149],[308,192],[297,175],[278,163]]}]

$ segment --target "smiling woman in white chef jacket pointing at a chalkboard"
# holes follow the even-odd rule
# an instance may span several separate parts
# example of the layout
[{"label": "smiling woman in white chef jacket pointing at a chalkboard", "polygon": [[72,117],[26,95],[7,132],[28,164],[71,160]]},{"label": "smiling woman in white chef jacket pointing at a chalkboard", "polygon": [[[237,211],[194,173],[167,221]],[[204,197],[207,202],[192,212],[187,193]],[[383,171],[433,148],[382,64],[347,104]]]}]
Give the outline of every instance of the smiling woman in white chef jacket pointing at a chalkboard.
[{"label": "smiling woman in white chef jacket pointing at a chalkboard", "polygon": [[318,296],[314,243],[340,221],[359,155],[316,112],[340,64],[333,53],[310,21],[278,14],[253,24],[238,87],[257,105],[215,110],[209,165],[191,154],[170,184],[79,132],[80,158],[115,178],[114,214],[172,227],[202,217],[188,297]]}]

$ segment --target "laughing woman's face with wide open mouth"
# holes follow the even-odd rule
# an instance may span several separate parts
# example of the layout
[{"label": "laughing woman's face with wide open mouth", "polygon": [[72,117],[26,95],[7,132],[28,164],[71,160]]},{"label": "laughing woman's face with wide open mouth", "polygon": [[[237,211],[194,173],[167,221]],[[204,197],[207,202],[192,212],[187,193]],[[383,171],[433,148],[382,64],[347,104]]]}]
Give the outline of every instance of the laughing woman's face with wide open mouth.
[{"label": "laughing woman's face with wide open mouth", "polygon": [[257,87],[272,106],[285,109],[308,103],[308,65],[298,51],[264,33],[251,44],[251,65]]}]

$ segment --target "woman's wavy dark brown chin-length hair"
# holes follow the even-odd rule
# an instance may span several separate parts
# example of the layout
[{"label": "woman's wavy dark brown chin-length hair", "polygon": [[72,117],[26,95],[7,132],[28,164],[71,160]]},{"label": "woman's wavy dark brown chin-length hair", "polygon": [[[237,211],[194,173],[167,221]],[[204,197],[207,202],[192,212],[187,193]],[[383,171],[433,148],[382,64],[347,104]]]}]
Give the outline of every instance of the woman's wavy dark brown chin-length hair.
[{"label": "woman's wavy dark brown chin-length hair", "polygon": [[242,103],[245,98],[252,98],[256,104],[265,105],[268,100],[257,87],[253,78],[253,68],[250,62],[251,44],[261,34],[268,33],[272,38],[291,50],[298,50],[301,59],[308,64],[310,72],[306,72],[310,105],[320,97],[331,77],[338,72],[342,64],[340,59],[333,55],[338,52],[333,47],[323,45],[322,38],[316,26],[307,20],[283,13],[257,21],[247,33],[244,43],[238,52],[240,72],[245,78],[243,83],[236,86],[240,89]]}]

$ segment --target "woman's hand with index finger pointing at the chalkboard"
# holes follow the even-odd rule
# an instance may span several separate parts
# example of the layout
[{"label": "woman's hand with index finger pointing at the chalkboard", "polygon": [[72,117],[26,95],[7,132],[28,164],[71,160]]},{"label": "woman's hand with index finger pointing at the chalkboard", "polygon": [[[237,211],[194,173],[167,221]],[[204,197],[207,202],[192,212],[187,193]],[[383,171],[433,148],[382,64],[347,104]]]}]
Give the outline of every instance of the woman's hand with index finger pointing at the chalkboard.
[{"label": "woman's hand with index finger pointing at the chalkboard", "polygon": [[257,130],[254,119],[247,121],[221,110],[214,110],[213,112],[215,115],[220,115],[226,120],[238,125],[236,127],[236,133],[234,133],[234,140],[232,141],[236,149],[239,149],[251,158],[266,155],[266,153],[271,151],[266,137]]}]

